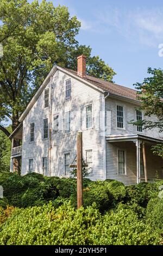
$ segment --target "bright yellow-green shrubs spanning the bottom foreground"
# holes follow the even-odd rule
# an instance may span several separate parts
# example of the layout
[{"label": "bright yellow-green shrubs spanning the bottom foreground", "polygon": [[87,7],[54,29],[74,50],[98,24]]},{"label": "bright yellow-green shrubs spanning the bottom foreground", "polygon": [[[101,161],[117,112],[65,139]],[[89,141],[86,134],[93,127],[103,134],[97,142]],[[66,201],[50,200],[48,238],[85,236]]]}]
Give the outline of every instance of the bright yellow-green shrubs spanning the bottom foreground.
[{"label": "bright yellow-green shrubs spanning the bottom foreground", "polygon": [[16,209],[0,225],[0,245],[155,245],[159,236],[130,210],[102,216],[70,203]]}]

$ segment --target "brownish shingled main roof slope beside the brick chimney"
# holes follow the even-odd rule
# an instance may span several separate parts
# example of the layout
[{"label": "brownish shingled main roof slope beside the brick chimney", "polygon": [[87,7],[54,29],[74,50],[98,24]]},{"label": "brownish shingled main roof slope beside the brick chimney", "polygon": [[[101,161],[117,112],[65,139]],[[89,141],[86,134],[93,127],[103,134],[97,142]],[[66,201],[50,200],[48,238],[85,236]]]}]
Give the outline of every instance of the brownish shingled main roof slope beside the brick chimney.
[{"label": "brownish shingled main roof slope beside the brick chimney", "polygon": [[[77,71],[66,69],[68,72],[71,72],[73,75],[78,76]],[[85,81],[92,83],[93,85],[97,86],[98,88],[101,88],[105,90],[108,93],[114,93],[121,96],[129,97],[130,99],[136,100],[136,90],[130,89],[128,87],[120,86],[116,83],[106,82],[100,78],[96,78],[93,76],[82,77]]]}]

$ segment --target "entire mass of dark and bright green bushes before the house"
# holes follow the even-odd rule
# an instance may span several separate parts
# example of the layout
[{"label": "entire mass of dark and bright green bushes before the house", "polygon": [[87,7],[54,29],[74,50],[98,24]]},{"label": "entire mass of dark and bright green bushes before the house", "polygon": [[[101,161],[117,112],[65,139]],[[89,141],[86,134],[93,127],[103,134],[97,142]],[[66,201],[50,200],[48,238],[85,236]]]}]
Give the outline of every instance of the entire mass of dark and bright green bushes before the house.
[{"label": "entire mass of dark and bright green bushes before the house", "polygon": [[162,240],[159,186],[0,173],[0,245],[155,245]]}]

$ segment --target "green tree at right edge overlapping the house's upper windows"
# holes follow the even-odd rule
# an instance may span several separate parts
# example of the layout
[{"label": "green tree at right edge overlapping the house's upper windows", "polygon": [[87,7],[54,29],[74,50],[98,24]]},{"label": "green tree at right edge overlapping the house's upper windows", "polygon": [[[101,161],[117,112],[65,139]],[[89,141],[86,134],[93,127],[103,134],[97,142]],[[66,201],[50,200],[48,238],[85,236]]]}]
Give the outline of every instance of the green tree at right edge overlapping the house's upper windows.
[{"label": "green tree at right edge overlapping the house's upper windows", "polygon": [[[158,128],[163,131],[163,70],[148,68],[149,77],[142,83],[136,83],[138,90],[137,99],[141,101],[140,109],[145,113],[145,119],[133,122],[134,125],[142,125],[143,129]],[[156,116],[156,120],[149,120],[151,115]],[[148,119],[146,119],[148,117]],[[156,155],[163,156],[163,145],[158,144],[153,147]]]}]

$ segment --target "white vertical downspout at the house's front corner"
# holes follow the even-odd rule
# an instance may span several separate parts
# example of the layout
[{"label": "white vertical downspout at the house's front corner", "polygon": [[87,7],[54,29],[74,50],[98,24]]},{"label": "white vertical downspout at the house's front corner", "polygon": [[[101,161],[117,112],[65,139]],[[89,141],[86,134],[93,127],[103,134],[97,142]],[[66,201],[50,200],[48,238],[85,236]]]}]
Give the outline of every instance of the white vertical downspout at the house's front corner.
[{"label": "white vertical downspout at the house's front corner", "polygon": [[103,95],[103,164],[104,164],[104,180],[106,179],[106,138],[105,138],[105,100],[109,97],[109,93]]}]

